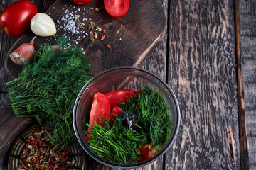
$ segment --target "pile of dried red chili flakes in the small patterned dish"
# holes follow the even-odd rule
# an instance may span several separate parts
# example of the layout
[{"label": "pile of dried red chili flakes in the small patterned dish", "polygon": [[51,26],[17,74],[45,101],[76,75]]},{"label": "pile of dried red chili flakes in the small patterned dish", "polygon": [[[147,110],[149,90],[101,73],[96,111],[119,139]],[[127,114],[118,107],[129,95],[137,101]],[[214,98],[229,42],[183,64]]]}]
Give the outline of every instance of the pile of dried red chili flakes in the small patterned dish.
[{"label": "pile of dried red chili flakes in the small patterned dish", "polygon": [[31,130],[26,147],[21,155],[21,166],[19,169],[68,169],[75,164],[75,160],[70,158],[68,149],[60,151],[55,149],[50,143],[47,135],[50,134],[42,126],[41,131]]}]

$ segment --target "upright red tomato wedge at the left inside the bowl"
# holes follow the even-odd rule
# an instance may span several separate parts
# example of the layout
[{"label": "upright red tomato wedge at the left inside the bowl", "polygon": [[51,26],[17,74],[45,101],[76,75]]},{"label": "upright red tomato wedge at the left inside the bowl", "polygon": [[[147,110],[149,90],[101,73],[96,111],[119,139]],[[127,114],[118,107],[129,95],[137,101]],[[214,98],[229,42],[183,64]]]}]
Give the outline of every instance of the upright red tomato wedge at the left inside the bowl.
[{"label": "upright red tomato wedge at the left inside the bowl", "polygon": [[[90,111],[90,119],[89,119],[89,125],[93,126],[93,123],[96,121],[97,125],[102,125],[100,122],[100,118],[102,120],[106,120],[107,118],[110,118],[110,103],[107,100],[107,97],[97,92],[95,96],[93,97],[92,101],[92,108]],[[90,132],[92,129],[88,128],[88,132]],[[88,140],[90,140],[90,137],[88,136]]]}]

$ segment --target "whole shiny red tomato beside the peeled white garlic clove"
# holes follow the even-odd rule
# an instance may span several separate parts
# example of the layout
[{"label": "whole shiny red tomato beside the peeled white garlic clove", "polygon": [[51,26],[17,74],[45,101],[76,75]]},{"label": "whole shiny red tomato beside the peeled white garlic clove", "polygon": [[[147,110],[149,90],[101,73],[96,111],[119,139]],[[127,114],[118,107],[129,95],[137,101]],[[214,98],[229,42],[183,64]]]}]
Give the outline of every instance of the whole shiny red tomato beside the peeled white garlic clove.
[{"label": "whole shiny red tomato beside the peeled white garlic clove", "polygon": [[20,36],[30,28],[31,19],[36,13],[38,9],[31,1],[16,1],[2,11],[0,28],[12,37]]}]

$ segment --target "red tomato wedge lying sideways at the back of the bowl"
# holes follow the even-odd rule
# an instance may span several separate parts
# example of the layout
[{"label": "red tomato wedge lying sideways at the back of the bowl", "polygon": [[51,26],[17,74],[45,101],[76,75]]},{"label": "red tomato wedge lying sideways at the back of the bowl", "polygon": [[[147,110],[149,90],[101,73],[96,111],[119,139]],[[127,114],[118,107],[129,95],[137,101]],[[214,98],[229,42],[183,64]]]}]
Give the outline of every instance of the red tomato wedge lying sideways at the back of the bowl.
[{"label": "red tomato wedge lying sideways at the back of the bowl", "polygon": [[122,89],[116,91],[110,91],[109,93],[105,94],[108,101],[110,102],[110,109],[114,108],[114,106],[127,101],[130,96],[134,95],[134,91],[131,89]]}]

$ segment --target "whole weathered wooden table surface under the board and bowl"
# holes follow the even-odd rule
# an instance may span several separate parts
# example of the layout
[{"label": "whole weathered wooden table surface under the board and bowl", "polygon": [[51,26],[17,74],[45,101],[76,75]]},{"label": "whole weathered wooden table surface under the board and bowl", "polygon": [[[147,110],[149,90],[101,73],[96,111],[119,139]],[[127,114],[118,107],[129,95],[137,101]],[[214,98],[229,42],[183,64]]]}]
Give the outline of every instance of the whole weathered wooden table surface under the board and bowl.
[{"label": "whole weathered wooden table surface under the board and bowl", "polygon": [[[14,1],[2,0],[0,11]],[[165,36],[138,67],[174,90],[181,126],[168,152],[139,169],[256,169],[256,1],[159,1]],[[33,2],[45,12],[54,0]],[[15,121],[31,121],[6,108],[4,82],[12,78],[4,58],[17,39],[0,31],[0,109],[6,112],[0,118],[0,152],[14,142],[1,135],[10,128],[5,120],[13,119],[14,130]],[[0,169],[6,161],[0,159]],[[87,156],[86,169],[111,168]]]}]

